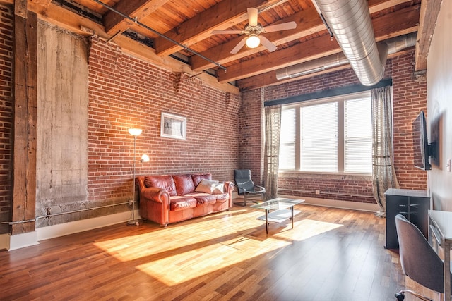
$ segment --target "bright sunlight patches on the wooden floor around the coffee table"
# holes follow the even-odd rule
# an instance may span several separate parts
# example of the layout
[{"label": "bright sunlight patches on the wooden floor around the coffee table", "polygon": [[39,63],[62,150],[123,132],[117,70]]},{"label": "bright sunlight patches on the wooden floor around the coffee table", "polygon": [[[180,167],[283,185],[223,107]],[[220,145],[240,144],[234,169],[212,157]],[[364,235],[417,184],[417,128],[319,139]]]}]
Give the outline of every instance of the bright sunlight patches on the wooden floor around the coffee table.
[{"label": "bright sunlight patches on the wooden floor around the coffee table", "polygon": [[[206,216],[196,223],[184,223],[162,230],[127,238],[96,242],[95,245],[121,261],[137,261],[136,268],[165,285],[178,285],[220,269],[242,269],[249,259],[274,256],[283,247],[314,235],[321,235],[340,224],[312,219],[270,223],[266,235],[265,221],[256,218],[261,211],[232,211],[246,214],[244,223],[230,223],[230,214]],[[143,240],[155,245],[141,247]],[[266,256],[264,256],[266,255]],[[234,271],[234,270],[233,270]]]}]

